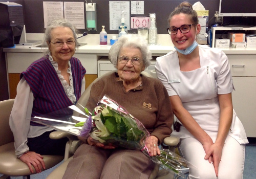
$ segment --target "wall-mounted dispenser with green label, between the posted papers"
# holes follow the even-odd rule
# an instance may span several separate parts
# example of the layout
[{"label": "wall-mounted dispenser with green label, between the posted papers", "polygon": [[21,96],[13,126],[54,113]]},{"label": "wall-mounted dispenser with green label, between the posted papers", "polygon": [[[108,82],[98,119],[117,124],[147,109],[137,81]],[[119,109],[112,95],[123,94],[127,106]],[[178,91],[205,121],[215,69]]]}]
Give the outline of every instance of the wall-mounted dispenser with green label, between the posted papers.
[{"label": "wall-mounted dispenser with green label, between the posted papers", "polygon": [[97,31],[96,3],[86,3],[86,24],[88,31]]}]

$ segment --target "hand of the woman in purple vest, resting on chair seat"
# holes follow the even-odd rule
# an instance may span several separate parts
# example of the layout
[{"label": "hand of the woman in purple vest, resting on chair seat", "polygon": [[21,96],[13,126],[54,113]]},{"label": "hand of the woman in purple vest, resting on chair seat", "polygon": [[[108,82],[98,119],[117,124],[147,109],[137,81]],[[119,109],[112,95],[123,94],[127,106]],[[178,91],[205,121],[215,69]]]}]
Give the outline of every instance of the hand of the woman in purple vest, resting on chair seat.
[{"label": "hand of the woman in purple vest, resting on chair seat", "polygon": [[44,157],[42,157],[39,153],[28,151],[20,156],[19,159],[28,165],[31,173],[34,173],[32,165],[35,168],[36,173],[40,173],[42,169],[46,169],[45,162],[42,160],[43,158]]}]

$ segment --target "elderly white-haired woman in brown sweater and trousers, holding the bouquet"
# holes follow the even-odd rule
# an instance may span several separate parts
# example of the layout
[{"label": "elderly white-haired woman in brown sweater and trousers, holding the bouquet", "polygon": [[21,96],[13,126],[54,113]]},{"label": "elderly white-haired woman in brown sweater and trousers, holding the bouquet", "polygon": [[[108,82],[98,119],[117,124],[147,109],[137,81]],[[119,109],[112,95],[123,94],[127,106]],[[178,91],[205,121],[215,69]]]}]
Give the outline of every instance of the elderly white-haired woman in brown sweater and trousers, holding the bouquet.
[{"label": "elderly white-haired woman in brown sweater and trousers, holding the bouquet", "polygon": [[[86,107],[92,111],[98,101],[108,95],[150,132],[146,143],[150,155],[160,154],[158,145],[172,133],[174,115],[161,81],[141,74],[152,59],[147,42],[135,34],[124,35],[112,46],[109,58],[117,72],[93,84]],[[139,150],[95,143],[89,137],[75,152],[63,178],[142,179],[148,178],[154,167]]]}]

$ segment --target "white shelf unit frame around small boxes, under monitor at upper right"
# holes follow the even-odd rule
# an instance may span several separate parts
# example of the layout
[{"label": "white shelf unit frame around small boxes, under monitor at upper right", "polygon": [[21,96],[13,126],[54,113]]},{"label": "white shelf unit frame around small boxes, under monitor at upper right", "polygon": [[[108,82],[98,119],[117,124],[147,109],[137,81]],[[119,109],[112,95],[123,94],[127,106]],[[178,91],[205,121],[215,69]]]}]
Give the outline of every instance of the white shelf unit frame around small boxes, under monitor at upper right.
[{"label": "white shelf unit frame around small boxes, under monitor at upper right", "polygon": [[[222,31],[222,32],[221,32]],[[248,33],[248,31],[252,31],[256,33],[256,27],[249,27],[249,28],[244,28],[244,27],[214,27],[212,28],[212,47],[215,47],[215,39],[222,37],[224,34],[227,34],[225,31],[233,31],[233,32],[244,32]],[[252,33],[250,32],[250,33]]]}]

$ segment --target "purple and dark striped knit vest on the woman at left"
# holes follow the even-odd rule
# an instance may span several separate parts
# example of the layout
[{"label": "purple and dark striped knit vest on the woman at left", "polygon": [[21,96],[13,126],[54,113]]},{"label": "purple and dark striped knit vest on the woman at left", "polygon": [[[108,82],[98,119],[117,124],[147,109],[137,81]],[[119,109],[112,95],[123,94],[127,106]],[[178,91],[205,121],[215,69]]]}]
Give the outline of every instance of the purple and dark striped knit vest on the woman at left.
[{"label": "purple and dark striped knit vest on the woman at left", "polygon": [[[81,96],[82,78],[86,74],[81,62],[72,57],[70,59],[76,100]],[[49,60],[49,56],[34,61],[29,68],[20,74],[24,77],[34,95],[32,115],[40,116],[73,105]],[[31,122],[30,125],[38,125]]]}]

